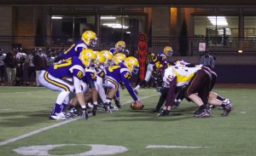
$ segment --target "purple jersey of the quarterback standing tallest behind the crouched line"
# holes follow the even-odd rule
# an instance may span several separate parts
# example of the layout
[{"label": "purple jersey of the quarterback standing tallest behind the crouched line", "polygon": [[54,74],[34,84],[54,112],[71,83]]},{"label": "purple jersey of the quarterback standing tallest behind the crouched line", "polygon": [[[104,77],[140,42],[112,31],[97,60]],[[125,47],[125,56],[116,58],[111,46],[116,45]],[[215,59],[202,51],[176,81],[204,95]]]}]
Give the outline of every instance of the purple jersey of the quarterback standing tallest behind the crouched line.
[{"label": "purple jersey of the quarterback standing tallest behind the crouched line", "polygon": [[61,53],[61,58],[65,60],[73,56],[79,56],[83,49],[87,49],[87,45],[84,41],[81,40],[77,43],[73,43],[69,49]]}]

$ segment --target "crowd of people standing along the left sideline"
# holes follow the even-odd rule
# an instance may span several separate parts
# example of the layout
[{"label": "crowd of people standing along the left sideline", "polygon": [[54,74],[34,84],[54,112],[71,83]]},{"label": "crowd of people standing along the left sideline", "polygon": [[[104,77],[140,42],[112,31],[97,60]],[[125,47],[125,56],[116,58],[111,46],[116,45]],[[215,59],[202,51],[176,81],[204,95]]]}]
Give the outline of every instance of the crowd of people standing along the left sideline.
[{"label": "crowd of people standing along the left sideline", "polygon": [[38,75],[53,64],[56,55],[63,49],[0,49],[0,85],[40,86]]}]

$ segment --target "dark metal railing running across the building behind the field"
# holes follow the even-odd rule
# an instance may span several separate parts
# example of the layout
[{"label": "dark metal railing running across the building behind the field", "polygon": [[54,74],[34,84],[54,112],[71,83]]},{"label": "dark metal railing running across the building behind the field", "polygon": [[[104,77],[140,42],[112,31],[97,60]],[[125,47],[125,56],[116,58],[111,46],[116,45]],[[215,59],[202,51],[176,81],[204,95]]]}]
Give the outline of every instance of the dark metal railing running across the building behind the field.
[{"label": "dark metal railing running across the building behind the field", "polygon": [[[68,49],[70,45],[80,38],[64,38],[64,37],[9,37],[0,36],[0,49],[9,51],[12,48],[21,47],[29,50],[33,48],[50,48],[50,49]],[[133,54],[137,51],[137,38],[123,38],[126,48]],[[119,38],[110,41],[108,37],[98,38],[97,45],[94,49],[111,49]],[[153,37],[148,39],[148,46],[157,54],[161,52],[165,46],[172,46],[175,53],[173,55],[201,55],[199,52],[199,43],[206,43],[207,50],[212,55],[256,55],[256,38],[166,38]],[[184,54],[180,48],[187,47]],[[242,49],[243,53],[237,53],[238,49]]]}]

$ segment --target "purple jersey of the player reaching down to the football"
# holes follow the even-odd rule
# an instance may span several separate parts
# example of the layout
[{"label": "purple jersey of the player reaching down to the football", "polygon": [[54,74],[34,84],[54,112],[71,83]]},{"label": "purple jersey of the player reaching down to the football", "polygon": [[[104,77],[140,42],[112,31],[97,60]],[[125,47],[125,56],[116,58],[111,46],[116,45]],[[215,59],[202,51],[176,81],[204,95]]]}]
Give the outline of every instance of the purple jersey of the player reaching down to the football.
[{"label": "purple jersey of the player reaching down to the football", "polygon": [[129,79],[131,78],[131,72],[123,63],[119,63],[119,65],[116,65],[116,66],[108,66],[106,78],[113,79],[118,83],[120,82],[124,83],[125,88],[128,90],[132,99],[134,101],[137,101],[137,96],[132,90],[131,84],[129,82]]}]

